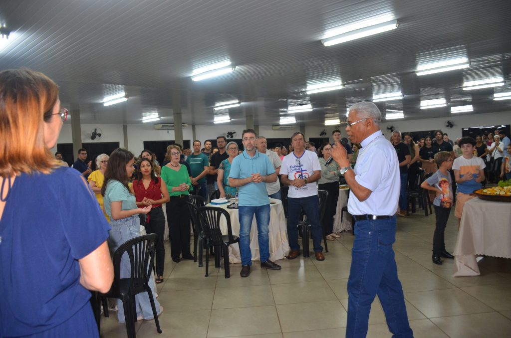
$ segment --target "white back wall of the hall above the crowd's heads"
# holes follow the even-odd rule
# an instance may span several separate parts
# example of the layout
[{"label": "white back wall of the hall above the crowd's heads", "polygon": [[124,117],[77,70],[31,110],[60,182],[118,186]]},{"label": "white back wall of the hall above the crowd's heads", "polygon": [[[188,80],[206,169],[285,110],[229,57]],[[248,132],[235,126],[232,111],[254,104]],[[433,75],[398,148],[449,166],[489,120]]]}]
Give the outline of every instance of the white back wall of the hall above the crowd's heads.
[{"label": "white back wall of the hall above the crowd's heads", "polygon": [[[447,120],[454,122],[454,128],[446,128],[445,122]],[[462,128],[477,127],[477,126],[493,126],[493,125],[507,125],[511,124],[511,112],[499,113],[486,113],[486,114],[471,114],[471,115],[453,115],[452,117],[443,118],[427,118],[416,120],[391,120],[389,122],[382,122],[381,128],[385,135],[389,135],[387,130],[388,126],[394,126],[401,132],[414,132],[422,130],[435,130],[442,129],[449,134],[449,138],[456,139],[461,137]],[[103,132],[101,139],[91,140],[90,133],[94,128],[100,128]],[[241,132],[245,129],[244,125],[197,125],[195,127],[196,138],[202,142],[206,139],[216,139],[217,136],[225,135],[228,131],[235,131],[235,138],[241,138]],[[323,126],[305,127],[305,137],[330,137],[332,140],[332,131],[337,129],[337,126]],[[320,136],[319,133],[325,130],[327,135]],[[259,126],[259,134],[267,138],[281,138],[291,137],[294,131],[299,131],[297,126],[292,130],[278,131],[273,130],[271,126]],[[344,127],[340,128],[342,136],[346,136]],[[140,154],[144,149],[144,141],[162,141],[173,140],[173,130],[155,130],[152,125],[128,125],[128,144],[127,148],[134,154]],[[183,129],[183,139],[193,140],[192,126]],[[62,131],[58,139],[58,143],[72,143],[73,138],[71,134],[71,125],[62,126]],[[119,142],[120,147],[125,147],[123,126],[122,125],[82,125],[82,142]],[[56,147],[52,152],[56,152]]]}]

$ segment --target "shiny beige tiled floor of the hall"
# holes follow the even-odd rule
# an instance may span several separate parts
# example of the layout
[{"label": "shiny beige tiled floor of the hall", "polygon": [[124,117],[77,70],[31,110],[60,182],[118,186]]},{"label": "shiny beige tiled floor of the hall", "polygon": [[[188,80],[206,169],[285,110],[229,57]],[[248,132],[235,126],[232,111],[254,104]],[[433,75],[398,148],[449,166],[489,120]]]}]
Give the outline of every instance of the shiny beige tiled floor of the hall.
[{"label": "shiny beige tiled floor of the hall", "polygon": [[[481,276],[452,277],[452,260],[443,265],[431,261],[434,215],[417,212],[398,221],[394,245],[399,277],[414,336],[510,337],[511,259],[485,257]],[[456,219],[446,229],[446,247],[452,252]],[[144,337],[341,337],[346,326],[346,283],[354,236],[345,233],[329,242],[326,260],[299,257],[277,261],[281,271],[252,265],[241,278],[240,264],[231,264],[231,277],[215,269],[204,277],[197,263],[174,263],[167,257],[165,282],[158,285],[164,313],[159,317],[163,334],[154,321],[136,323]],[[167,256],[169,251],[166,243]],[[102,317],[102,337],[125,337],[117,316]],[[378,299],[371,308],[368,337],[390,337]]]}]

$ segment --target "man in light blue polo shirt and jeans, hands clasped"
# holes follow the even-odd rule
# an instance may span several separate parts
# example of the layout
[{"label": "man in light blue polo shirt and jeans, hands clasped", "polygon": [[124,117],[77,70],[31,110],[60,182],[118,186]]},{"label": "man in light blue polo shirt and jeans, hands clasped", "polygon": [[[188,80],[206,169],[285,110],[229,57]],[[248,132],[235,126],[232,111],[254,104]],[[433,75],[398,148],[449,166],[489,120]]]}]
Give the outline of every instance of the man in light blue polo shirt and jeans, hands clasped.
[{"label": "man in light blue polo shirt and jeans, hands clasped", "polygon": [[266,192],[266,183],[277,180],[277,174],[270,159],[255,149],[257,136],[253,129],[246,129],[242,134],[242,154],[236,156],[230,166],[229,185],[239,187],[239,221],[241,277],[250,275],[252,253],[250,252],[250,229],[255,215],[258,229],[261,268],[280,270],[272,262],[269,249],[270,201]]}]

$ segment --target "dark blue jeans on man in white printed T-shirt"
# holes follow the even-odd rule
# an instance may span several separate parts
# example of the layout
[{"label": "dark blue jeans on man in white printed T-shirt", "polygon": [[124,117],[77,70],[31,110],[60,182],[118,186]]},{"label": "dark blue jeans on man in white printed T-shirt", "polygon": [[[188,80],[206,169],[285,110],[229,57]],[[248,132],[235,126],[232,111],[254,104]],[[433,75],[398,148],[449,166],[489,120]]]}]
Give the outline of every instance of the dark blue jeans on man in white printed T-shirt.
[{"label": "dark blue jeans on man in white printed T-shirt", "polygon": [[319,223],[319,200],[318,196],[309,196],[301,198],[288,197],[288,239],[291,250],[300,250],[298,245],[297,224],[301,214],[305,211],[307,221],[311,224],[312,243],[314,252],[322,252],[321,239],[323,238],[323,229]]}]

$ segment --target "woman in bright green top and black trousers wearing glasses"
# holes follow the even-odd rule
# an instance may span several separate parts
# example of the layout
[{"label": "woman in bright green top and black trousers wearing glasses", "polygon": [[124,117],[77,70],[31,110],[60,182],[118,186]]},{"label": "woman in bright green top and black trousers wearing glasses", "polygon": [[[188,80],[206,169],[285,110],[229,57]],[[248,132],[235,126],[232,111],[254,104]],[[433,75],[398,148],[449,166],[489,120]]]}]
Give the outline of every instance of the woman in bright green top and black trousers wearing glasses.
[{"label": "woman in bright green top and black trousers wearing glasses", "polygon": [[170,201],[165,205],[169,224],[170,256],[173,261],[193,259],[190,253],[190,212],[188,211],[189,188],[192,185],[188,170],[179,163],[181,150],[172,145],[168,148],[170,162],[161,168],[161,179],[167,185]]}]

